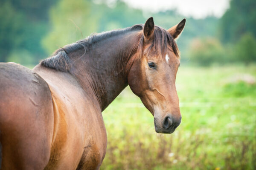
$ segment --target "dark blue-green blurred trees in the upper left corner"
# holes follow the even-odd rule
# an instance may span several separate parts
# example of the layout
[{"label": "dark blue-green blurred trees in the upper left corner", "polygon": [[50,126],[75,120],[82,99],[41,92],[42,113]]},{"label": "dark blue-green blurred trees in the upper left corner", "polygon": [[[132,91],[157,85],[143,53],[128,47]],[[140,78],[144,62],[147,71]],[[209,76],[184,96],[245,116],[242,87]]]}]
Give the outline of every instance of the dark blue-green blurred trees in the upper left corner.
[{"label": "dark blue-green blurred trees in the upper left corner", "polygon": [[12,56],[11,61],[23,63],[20,58],[27,54],[27,64],[38,63],[45,55],[40,42],[47,32],[47,7],[53,2],[48,5],[32,0],[0,2],[0,61],[10,61],[8,58]]}]

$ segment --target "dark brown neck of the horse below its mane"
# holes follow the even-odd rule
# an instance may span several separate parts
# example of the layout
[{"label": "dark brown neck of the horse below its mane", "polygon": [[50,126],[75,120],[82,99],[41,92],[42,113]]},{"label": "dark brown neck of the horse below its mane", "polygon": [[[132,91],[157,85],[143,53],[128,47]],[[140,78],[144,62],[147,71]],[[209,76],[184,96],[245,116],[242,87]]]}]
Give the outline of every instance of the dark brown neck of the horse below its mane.
[{"label": "dark brown neck of the horse below its mane", "polygon": [[88,90],[96,97],[102,111],[128,85],[127,50],[133,45],[132,35],[112,37],[94,44],[90,52],[81,58],[75,54],[71,73],[78,78],[84,90]]}]

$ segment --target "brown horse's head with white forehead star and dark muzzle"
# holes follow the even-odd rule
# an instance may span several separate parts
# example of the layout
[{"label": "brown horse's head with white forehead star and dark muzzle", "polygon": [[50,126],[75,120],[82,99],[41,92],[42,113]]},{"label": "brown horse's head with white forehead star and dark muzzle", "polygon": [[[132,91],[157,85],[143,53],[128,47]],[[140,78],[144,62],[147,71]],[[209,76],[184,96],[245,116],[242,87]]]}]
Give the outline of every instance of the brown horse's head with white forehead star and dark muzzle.
[{"label": "brown horse's head with white forehead star and dark muzzle", "polygon": [[181,122],[175,87],[180,57],[175,39],[185,22],[183,19],[165,30],[154,26],[153,18],[149,18],[140,32],[141,52],[134,57],[128,73],[128,84],[154,116],[157,133],[173,133]]}]

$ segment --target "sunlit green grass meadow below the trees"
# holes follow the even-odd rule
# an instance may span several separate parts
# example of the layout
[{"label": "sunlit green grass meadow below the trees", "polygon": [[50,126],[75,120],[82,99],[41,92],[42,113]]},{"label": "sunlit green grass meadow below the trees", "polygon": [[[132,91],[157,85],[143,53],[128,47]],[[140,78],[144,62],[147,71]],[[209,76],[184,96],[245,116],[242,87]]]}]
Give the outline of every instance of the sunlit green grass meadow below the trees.
[{"label": "sunlit green grass meadow below the trees", "polygon": [[103,112],[108,148],[101,169],[256,169],[256,84],[250,76],[255,80],[256,65],[181,66],[182,123],[171,135],[155,133],[153,116],[127,87]]}]

